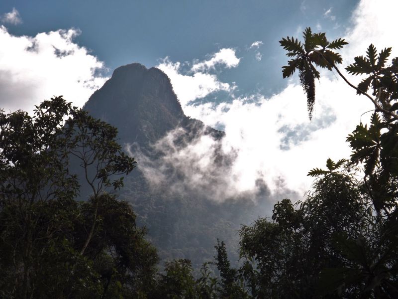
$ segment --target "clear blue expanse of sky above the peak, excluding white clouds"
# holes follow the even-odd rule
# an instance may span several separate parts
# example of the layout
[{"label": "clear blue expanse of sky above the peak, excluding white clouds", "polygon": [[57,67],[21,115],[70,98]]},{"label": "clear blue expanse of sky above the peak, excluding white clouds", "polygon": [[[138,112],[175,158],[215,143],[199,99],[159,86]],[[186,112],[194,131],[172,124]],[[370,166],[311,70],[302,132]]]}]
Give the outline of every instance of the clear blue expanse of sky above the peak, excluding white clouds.
[{"label": "clear blue expanse of sky above the peak, excluding white clouds", "polygon": [[[19,11],[23,22],[7,26],[16,35],[80,29],[75,41],[110,70],[132,62],[152,67],[166,56],[172,61],[203,59],[220,48],[234,48],[242,58],[240,67],[223,72],[220,79],[236,82],[240,93],[260,90],[269,95],[286,85],[278,76],[285,61],[278,40],[300,26],[318,25],[331,37],[340,35],[356,4],[356,0],[3,0],[0,13],[13,7]],[[328,9],[330,14],[324,15]],[[254,41],[263,41],[261,61],[247,49]]]}]

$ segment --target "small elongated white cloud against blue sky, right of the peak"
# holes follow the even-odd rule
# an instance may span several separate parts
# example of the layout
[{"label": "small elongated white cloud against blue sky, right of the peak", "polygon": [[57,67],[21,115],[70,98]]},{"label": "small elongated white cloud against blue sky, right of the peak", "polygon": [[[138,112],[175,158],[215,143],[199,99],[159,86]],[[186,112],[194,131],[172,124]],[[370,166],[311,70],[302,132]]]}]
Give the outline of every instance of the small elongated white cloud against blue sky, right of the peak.
[{"label": "small elongated white cloud against blue sky, right of the peak", "polygon": [[235,50],[231,48],[222,48],[217,53],[211,55],[208,60],[200,61],[192,66],[193,72],[208,71],[214,69],[215,65],[221,64],[226,68],[237,67],[240,58],[236,57]]}]

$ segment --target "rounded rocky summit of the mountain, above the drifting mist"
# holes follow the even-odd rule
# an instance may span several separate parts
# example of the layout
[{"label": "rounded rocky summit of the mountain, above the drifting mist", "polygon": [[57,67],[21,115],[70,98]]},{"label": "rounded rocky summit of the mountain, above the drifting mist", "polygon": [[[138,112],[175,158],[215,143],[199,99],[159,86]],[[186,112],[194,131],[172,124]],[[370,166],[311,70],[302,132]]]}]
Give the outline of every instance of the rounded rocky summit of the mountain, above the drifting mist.
[{"label": "rounded rocky summit of the mountain, above the drifting mist", "polygon": [[187,118],[169,77],[140,63],[115,69],[84,109],[118,128],[122,141],[140,144],[158,140]]}]

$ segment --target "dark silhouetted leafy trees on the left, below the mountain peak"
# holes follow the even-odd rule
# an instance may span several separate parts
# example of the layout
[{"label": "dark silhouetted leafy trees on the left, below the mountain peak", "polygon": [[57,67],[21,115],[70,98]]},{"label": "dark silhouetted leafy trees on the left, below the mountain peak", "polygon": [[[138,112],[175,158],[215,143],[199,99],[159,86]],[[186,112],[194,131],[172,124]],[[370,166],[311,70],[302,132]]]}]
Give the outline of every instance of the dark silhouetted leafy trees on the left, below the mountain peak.
[{"label": "dark silhouetted leafy trees on the left, below the mountain peak", "polygon": [[[102,188],[122,186],[111,175],[134,167],[116,134],[62,97],[33,117],[0,114],[0,297],[136,297],[150,287],[156,251],[131,207]],[[75,201],[71,156],[92,187],[88,202]]]}]

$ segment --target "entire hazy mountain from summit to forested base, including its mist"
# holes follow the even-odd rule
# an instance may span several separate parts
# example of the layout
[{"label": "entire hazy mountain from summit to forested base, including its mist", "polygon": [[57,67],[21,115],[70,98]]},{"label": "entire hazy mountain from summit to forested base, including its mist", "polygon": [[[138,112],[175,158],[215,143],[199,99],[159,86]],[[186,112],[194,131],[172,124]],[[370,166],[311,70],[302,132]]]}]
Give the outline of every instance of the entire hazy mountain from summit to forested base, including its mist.
[{"label": "entire hazy mountain from summit to forested base, including its mist", "polygon": [[186,258],[199,266],[213,259],[217,238],[238,260],[241,225],[267,216],[280,198],[261,177],[254,190],[237,191],[230,176],[236,155],[223,150],[224,132],[186,116],[165,73],[121,66],[84,109],[116,127],[137,160],[119,199],[132,205],[163,261]]}]

